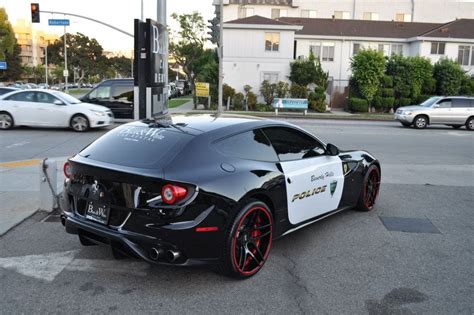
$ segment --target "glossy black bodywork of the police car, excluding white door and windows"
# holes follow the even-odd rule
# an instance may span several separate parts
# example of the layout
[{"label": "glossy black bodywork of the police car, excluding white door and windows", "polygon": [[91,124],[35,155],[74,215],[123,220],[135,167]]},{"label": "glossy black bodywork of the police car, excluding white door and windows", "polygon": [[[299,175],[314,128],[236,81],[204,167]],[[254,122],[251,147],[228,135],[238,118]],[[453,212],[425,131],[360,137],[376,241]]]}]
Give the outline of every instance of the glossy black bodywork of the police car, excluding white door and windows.
[{"label": "glossy black bodywork of the police car, excluding white door and windows", "polygon": [[[188,121],[193,119],[195,118],[189,118]],[[278,161],[262,162],[224,156],[212,145],[219,139],[247,130],[292,125],[253,119],[230,118],[221,119],[221,121],[215,119],[206,121],[206,119],[209,118],[197,119],[197,123],[194,124],[184,124],[183,132],[207,129],[197,133],[193,141],[190,141],[181,152],[176,152],[172,158],[168,159],[169,162],[160,168],[141,169],[117,166],[90,160],[81,155],[71,158],[73,174],[89,177],[89,184],[84,181],[78,182],[77,177],[65,182],[62,207],[67,232],[81,234],[98,243],[106,242],[112,246],[123,246],[133,254],[155,263],[166,263],[166,261],[151,260],[149,252],[152,247],[178,250],[183,255],[175,264],[189,265],[213,263],[220,259],[225,234],[234,217],[249,199],[261,200],[269,206],[274,217],[274,239],[289,230],[318,219],[311,218],[298,225],[290,223],[285,176]],[[186,120],[187,118],[177,119],[182,124]],[[210,121],[216,124],[210,127]],[[139,122],[133,124],[145,125]],[[357,203],[368,167],[373,163],[378,164],[375,158],[364,151],[341,151],[339,157],[343,163],[348,164],[348,172],[345,174],[343,195],[337,210],[351,208]],[[77,203],[81,189],[84,185],[90,185],[92,179],[98,179],[99,182],[116,182],[121,186],[140,186],[145,189],[150,188],[150,190],[156,187],[156,192],[159,192],[158,188],[163,183],[173,182],[197,187],[198,192],[193,196],[188,196],[185,205],[167,207],[173,213],[181,213],[180,215],[163,217],[157,215],[157,209],[131,206],[131,195],[128,193],[127,196],[125,193],[127,189],[123,186],[121,192],[114,192],[122,195],[115,197],[116,200],[121,198],[122,203],[118,207],[120,209],[114,210],[114,212],[121,211],[122,221],[119,220],[117,225],[126,217],[122,212],[131,212],[131,215],[123,226],[109,227],[86,220],[71,211],[71,202]],[[131,187],[128,188],[129,192]],[[165,207],[160,206],[160,208]],[[111,220],[114,220],[113,215],[111,215]],[[327,214],[321,217],[325,216]],[[194,230],[197,226],[218,226],[219,230],[197,233]]]}]

